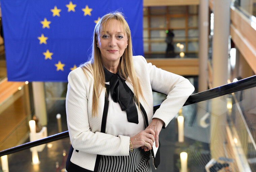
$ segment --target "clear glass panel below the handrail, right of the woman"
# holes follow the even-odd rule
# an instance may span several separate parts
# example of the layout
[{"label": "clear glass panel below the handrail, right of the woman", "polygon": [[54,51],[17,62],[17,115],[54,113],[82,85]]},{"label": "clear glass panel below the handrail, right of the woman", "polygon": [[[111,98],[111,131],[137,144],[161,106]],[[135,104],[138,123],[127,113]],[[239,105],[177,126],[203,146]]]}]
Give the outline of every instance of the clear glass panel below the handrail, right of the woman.
[{"label": "clear glass panel below the handrail, right of the woman", "polygon": [[[157,171],[178,172],[181,162],[186,162],[185,171],[190,172],[204,171],[213,165],[223,171],[255,171],[255,92],[252,88],[235,93],[242,98],[239,104],[243,104],[241,110],[250,124],[244,123],[232,94],[184,106],[160,132],[161,163]],[[178,122],[179,115],[184,122]],[[182,152],[187,153],[187,159],[181,160]]]}]

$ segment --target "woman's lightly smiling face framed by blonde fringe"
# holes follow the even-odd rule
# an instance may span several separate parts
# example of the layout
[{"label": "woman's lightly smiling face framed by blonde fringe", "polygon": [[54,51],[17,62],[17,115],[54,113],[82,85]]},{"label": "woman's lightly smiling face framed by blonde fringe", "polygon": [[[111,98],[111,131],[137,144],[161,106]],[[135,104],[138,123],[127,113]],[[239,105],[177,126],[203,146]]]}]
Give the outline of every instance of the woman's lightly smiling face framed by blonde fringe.
[{"label": "woman's lightly smiling face framed by blonde fringe", "polygon": [[116,19],[111,20],[108,26],[99,33],[97,45],[103,62],[119,62],[128,45],[127,35]]}]

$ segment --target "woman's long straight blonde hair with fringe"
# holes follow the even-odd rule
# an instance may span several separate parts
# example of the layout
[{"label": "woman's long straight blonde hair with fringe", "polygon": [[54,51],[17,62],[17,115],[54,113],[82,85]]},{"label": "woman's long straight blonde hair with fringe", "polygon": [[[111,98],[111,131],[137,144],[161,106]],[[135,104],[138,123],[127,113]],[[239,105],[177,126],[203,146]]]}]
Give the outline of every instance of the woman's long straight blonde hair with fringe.
[{"label": "woman's long straight blonde hair with fringe", "polygon": [[[93,97],[92,97],[92,116],[98,114],[98,103],[99,95],[102,89],[105,87],[105,75],[103,70],[103,64],[101,59],[100,49],[97,47],[98,36],[102,31],[106,31],[106,28],[109,27],[111,20],[118,20],[119,24],[122,26],[124,32],[127,35],[128,45],[124,51],[124,54],[121,56],[119,73],[121,74],[122,79],[130,82],[134,88],[134,100],[138,104],[140,109],[139,99],[142,98],[145,100],[142,94],[141,86],[139,80],[136,76],[134,67],[133,67],[133,57],[132,57],[132,41],[131,41],[131,31],[130,28],[121,12],[115,11],[112,13],[105,14],[99,22],[96,24],[93,33],[93,44],[92,44],[92,55],[88,62],[82,64],[82,69],[85,74],[88,75],[88,72],[93,75]],[[111,29],[111,28],[110,28]],[[128,78],[129,76],[129,78]]]}]

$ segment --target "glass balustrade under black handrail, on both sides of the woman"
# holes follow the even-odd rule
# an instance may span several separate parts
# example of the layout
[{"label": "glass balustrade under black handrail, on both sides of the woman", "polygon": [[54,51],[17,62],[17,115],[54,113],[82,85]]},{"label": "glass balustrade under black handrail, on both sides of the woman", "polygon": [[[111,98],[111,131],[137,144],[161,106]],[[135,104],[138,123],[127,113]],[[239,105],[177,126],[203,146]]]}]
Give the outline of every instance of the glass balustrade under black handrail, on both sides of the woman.
[{"label": "glass balustrade under black handrail, on both sides of the woman", "polygon": [[[253,87],[184,106],[161,130],[161,163],[152,170],[256,171],[255,94]],[[32,148],[9,154],[9,171],[65,171],[69,138],[41,146],[39,164],[33,164]]]}]

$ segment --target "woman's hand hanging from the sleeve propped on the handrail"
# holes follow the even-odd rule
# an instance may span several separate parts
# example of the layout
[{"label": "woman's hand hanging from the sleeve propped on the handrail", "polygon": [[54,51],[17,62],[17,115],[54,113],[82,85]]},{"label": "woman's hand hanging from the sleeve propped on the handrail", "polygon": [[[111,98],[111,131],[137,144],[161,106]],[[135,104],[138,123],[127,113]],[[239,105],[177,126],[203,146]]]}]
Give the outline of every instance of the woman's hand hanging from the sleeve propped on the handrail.
[{"label": "woman's hand hanging from the sleeve propped on the handrail", "polygon": [[[158,147],[159,142],[158,142],[158,138],[159,138],[159,133],[163,127],[164,122],[162,120],[160,120],[159,118],[153,118],[152,122],[149,124],[149,126],[147,128],[151,128],[155,131],[155,141],[156,141],[156,147]],[[146,128],[146,129],[147,129]],[[145,151],[147,151],[147,147],[141,147],[142,149],[144,148]]]}]

